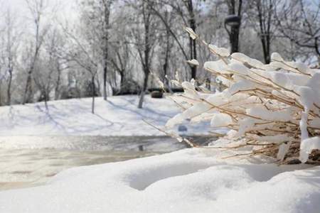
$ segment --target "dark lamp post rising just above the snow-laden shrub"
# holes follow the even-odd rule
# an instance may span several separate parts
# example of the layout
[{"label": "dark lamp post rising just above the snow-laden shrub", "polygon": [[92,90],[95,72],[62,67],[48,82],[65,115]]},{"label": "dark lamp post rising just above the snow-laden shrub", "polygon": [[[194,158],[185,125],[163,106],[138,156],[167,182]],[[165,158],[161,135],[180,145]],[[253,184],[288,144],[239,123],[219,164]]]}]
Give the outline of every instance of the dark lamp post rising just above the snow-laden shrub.
[{"label": "dark lamp post rising just above the snow-laden shrub", "polygon": [[[238,52],[240,24],[241,24],[240,16],[229,15],[225,18],[225,30],[228,32],[228,35],[229,35],[231,53]],[[230,28],[228,28],[228,26]]]}]

